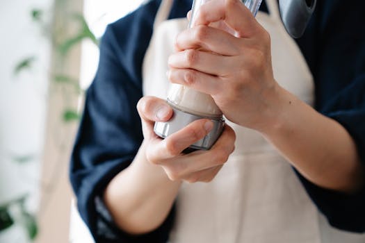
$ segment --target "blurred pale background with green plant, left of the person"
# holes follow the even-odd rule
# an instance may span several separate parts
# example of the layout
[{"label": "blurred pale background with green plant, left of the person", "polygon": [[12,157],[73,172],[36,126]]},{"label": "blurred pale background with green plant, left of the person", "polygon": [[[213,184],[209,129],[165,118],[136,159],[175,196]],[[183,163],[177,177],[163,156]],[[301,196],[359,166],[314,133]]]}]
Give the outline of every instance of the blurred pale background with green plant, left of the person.
[{"label": "blurred pale background with green plant, left of the person", "polygon": [[142,2],[1,1],[0,242],[88,242],[71,214],[70,152],[99,40]]}]

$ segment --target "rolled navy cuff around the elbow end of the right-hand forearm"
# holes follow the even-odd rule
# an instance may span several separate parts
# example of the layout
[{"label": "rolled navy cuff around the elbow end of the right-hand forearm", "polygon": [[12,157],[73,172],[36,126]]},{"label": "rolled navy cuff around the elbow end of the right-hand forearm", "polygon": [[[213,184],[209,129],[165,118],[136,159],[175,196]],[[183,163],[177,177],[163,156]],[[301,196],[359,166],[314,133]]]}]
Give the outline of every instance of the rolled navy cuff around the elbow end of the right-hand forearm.
[{"label": "rolled navy cuff around the elbow end of the right-hand forearm", "polygon": [[[352,136],[362,163],[365,162],[365,74],[359,76],[322,110],[338,121]],[[332,226],[365,232],[365,187],[355,194],[325,190],[300,176],[309,196]]]}]

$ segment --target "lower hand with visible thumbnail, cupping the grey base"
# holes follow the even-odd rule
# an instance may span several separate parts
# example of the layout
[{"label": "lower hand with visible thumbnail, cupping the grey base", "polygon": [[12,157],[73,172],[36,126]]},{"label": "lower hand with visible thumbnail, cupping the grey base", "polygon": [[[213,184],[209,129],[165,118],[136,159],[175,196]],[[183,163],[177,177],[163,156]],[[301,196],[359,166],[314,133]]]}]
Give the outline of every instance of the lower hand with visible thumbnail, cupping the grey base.
[{"label": "lower hand with visible thumbnail, cupping the grey base", "polygon": [[143,125],[146,158],[152,164],[163,167],[172,181],[209,182],[234,151],[236,135],[232,128],[226,125],[222,135],[209,151],[184,154],[184,149],[211,131],[212,121],[193,121],[162,140],[154,133],[153,127],[155,121],[168,121],[172,117],[173,111],[168,103],[156,97],[143,97],[138,102],[137,109]]}]

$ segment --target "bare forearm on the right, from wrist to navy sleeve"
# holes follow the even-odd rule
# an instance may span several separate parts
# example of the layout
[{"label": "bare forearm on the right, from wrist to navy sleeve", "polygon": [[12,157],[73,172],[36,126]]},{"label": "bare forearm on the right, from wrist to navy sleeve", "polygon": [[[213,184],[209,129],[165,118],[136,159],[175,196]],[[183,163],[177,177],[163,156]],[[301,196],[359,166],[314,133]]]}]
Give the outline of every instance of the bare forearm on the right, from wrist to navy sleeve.
[{"label": "bare forearm on the right, from wrist to navy sleeve", "polygon": [[312,183],[347,193],[362,186],[364,169],[346,129],[281,87],[277,94],[279,110],[263,129],[266,138]]}]

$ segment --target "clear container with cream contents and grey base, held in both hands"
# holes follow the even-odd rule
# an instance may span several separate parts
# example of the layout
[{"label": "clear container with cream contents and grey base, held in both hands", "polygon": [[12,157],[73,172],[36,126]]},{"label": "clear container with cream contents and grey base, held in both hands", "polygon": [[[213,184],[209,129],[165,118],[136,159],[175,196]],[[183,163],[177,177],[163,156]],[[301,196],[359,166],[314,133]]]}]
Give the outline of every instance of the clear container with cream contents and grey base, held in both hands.
[{"label": "clear container with cream contents and grey base, held in both hands", "polygon": [[[207,1],[209,0],[193,1],[192,15],[188,28],[194,26],[197,11]],[[243,3],[256,15],[261,0],[244,0]],[[236,36],[236,31],[227,26],[223,21],[212,23],[210,26],[221,28]],[[168,103],[172,106],[174,115],[167,122],[156,122],[154,132],[160,137],[165,138],[197,119],[211,119],[213,121],[212,131],[202,138],[202,140],[190,146],[192,149],[210,149],[216,140],[218,140],[225,126],[222,111],[216,105],[211,95],[198,92],[184,85],[172,84],[168,92]]]}]

